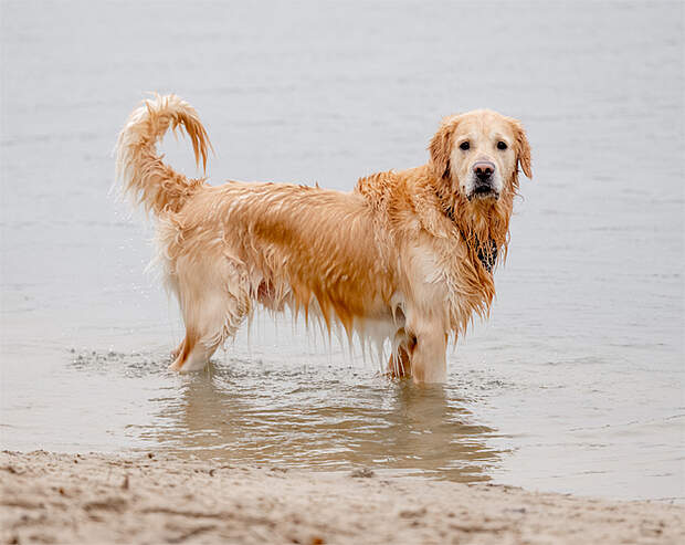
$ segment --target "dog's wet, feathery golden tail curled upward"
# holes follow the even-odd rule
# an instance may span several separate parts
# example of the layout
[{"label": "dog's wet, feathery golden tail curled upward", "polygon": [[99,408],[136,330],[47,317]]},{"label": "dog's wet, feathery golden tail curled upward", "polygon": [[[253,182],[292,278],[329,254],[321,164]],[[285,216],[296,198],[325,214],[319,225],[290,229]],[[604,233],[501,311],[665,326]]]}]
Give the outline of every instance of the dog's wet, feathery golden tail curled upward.
[{"label": "dog's wet, feathery golden tail curled upward", "polygon": [[144,101],[128,118],[116,145],[116,176],[124,192],[157,216],[178,212],[188,197],[204,185],[204,178],[189,179],[162,163],[157,143],[171,127],[182,125],[192,143],[196,163],[207,168],[211,149],[207,130],[194,108],[176,95],[155,95]]}]

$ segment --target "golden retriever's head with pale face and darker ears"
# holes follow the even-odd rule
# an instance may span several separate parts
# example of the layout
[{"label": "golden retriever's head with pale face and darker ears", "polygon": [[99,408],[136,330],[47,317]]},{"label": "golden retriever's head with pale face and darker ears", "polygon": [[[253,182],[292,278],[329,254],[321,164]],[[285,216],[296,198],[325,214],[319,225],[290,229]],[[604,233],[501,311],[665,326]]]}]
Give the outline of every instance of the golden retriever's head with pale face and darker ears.
[{"label": "golden retriever's head with pale face and darker ears", "polygon": [[429,147],[438,178],[471,202],[495,203],[513,196],[518,166],[533,177],[530,146],[517,119],[478,109],[442,120]]}]

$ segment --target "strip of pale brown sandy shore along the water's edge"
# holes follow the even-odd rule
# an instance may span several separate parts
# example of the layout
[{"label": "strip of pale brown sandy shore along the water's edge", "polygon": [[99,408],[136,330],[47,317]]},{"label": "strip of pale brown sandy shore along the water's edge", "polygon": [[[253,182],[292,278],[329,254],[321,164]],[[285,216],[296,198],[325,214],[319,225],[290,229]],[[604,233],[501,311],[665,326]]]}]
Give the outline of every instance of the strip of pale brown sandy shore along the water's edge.
[{"label": "strip of pale brown sandy shore along the water's edge", "polygon": [[685,506],[278,467],[0,454],[2,543],[685,543]]}]

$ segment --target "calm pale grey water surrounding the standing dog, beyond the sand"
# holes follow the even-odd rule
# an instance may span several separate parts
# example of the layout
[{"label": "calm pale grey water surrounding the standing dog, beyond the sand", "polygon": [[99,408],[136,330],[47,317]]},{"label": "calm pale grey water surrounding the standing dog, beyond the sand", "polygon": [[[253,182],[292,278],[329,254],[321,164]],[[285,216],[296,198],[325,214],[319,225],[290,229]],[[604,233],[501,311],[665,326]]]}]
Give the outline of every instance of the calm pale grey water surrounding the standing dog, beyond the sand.
[{"label": "calm pale grey water surrounding the standing dog, beyond the sand", "polygon": [[[419,6],[2,3],[3,448],[685,497],[682,4]],[[424,163],[442,115],[523,119],[535,180],[447,384],[267,317],[169,374],[151,230],[109,192],[146,91],[198,107],[214,182],[347,190]],[[192,171],[187,140],[165,148]]]}]

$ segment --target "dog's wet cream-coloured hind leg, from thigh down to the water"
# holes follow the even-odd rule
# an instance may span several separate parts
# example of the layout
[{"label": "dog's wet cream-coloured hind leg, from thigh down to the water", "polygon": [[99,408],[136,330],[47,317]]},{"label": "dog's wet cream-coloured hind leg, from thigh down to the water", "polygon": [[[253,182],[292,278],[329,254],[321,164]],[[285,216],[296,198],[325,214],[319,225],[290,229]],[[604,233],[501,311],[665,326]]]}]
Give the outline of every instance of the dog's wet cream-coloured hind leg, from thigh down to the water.
[{"label": "dog's wet cream-coloured hind leg, from thigh down to the water", "polygon": [[251,311],[245,275],[238,268],[198,269],[193,263],[178,277],[186,338],[169,368],[180,373],[204,368],[217,348],[235,334]]}]

